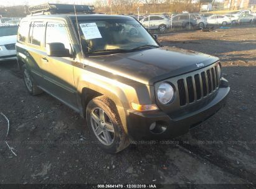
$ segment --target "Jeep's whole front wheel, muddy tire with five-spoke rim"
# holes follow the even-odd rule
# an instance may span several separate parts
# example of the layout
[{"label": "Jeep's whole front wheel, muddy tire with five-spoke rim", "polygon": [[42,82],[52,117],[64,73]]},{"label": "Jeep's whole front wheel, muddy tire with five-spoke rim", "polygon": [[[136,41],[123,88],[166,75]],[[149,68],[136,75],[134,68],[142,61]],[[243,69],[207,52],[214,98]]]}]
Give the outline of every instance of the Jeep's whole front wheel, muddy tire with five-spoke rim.
[{"label": "Jeep's whole front wheel, muddy tire with five-spoke rim", "polygon": [[107,96],[98,96],[88,103],[86,118],[90,135],[105,152],[115,154],[130,145],[115,103]]}]

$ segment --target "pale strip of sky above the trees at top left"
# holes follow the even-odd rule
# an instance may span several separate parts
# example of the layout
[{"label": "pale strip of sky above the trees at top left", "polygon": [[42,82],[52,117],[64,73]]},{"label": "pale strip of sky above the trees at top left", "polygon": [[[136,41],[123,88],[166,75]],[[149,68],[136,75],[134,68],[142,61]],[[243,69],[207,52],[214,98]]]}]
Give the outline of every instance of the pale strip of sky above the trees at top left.
[{"label": "pale strip of sky above the trees at top left", "polygon": [[65,3],[65,4],[92,4],[92,0],[0,0],[0,6],[16,6],[16,5],[24,5],[27,4],[37,5],[44,4],[45,2],[52,3]]}]

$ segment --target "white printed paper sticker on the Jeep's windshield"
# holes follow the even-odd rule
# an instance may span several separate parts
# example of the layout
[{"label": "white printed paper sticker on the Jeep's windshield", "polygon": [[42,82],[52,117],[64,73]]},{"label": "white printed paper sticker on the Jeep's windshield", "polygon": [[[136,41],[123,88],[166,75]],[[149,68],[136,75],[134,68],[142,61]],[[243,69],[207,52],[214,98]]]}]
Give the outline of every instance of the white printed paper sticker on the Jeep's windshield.
[{"label": "white printed paper sticker on the Jeep's windshield", "polygon": [[80,27],[86,40],[102,38],[102,35],[100,34],[100,31],[98,30],[98,27],[95,22],[80,24]]}]

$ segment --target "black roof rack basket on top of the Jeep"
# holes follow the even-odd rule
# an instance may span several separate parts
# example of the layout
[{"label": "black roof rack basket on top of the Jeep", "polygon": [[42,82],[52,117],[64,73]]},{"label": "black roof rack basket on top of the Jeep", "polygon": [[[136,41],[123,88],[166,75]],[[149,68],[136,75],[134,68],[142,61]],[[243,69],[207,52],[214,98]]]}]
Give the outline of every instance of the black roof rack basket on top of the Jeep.
[{"label": "black roof rack basket on top of the Jeep", "polygon": [[86,14],[93,14],[94,6],[88,5],[78,5],[75,4],[75,9],[73,4],[40,4],[37,6],[29,7],[29,12],[33,14],[68,14],[76,12],[83,12]]}]

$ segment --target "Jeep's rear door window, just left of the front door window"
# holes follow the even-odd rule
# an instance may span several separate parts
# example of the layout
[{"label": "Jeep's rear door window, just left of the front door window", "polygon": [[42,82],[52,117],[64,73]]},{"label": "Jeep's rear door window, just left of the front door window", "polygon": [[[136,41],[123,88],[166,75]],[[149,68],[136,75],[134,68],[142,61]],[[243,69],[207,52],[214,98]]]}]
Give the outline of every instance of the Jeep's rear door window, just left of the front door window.
[{"label": "Jeep's rear door window, just left of the front door window", "polygon": [[40,46],[44,39],[44,29],[43,22],[32,22],[29,30],[29,43]]}]

